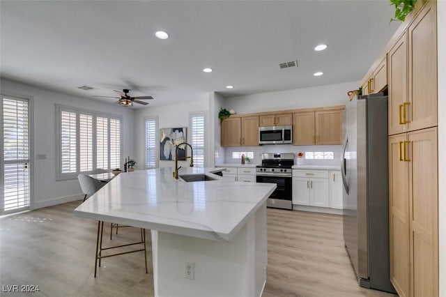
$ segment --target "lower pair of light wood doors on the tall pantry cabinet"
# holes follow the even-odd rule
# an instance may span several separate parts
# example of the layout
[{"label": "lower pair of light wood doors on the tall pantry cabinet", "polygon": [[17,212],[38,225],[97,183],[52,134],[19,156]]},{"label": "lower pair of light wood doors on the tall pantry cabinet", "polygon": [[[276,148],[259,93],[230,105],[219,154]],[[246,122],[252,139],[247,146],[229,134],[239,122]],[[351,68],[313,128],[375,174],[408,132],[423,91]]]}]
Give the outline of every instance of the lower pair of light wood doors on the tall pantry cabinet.
[{"label": "lower pair of light wood doors on the tall pantry cabinet", "polygon": [[399,296],[438,296],[437,128],[389,137],[390,280]]}]

